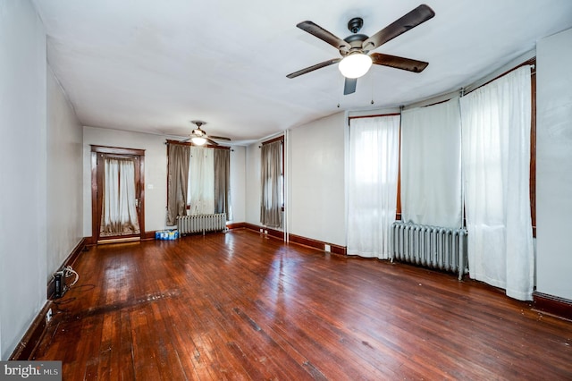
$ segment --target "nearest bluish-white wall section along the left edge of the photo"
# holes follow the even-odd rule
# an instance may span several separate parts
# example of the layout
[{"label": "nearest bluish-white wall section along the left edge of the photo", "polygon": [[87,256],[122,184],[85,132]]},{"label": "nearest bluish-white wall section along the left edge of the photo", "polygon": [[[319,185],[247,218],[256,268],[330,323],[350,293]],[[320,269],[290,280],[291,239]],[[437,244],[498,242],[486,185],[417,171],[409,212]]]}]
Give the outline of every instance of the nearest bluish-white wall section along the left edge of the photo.
[{"label": "nearest bluish-white wall section along the left edge of the photo", "polygon": [[46,35],[29,1],[0,0],[0,358],[46,301]]}]

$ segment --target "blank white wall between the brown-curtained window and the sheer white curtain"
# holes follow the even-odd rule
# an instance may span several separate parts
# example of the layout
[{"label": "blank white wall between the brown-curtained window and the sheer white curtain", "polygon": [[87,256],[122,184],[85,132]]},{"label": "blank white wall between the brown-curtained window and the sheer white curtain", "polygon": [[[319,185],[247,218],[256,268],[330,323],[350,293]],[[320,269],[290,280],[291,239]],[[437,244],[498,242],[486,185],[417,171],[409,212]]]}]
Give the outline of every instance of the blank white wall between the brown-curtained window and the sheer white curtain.
[{"label": "blank white wall between the brown-curtained window and the sheer white curtain", "polygon": [[343,113],[290,131],[290,232],[346,246]]}]

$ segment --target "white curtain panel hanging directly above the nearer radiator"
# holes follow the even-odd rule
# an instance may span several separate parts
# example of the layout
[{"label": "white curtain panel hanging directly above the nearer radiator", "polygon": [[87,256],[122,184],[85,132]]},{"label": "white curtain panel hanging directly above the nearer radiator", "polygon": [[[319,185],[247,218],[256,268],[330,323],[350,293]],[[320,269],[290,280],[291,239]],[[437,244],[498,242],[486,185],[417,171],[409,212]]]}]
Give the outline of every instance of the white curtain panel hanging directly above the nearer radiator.
[{"label": "white curtain panel hanging directly above the nearer radiator", "polygon": [[449,228],[462,225],[458,97],[401,114],[401,217]]}]

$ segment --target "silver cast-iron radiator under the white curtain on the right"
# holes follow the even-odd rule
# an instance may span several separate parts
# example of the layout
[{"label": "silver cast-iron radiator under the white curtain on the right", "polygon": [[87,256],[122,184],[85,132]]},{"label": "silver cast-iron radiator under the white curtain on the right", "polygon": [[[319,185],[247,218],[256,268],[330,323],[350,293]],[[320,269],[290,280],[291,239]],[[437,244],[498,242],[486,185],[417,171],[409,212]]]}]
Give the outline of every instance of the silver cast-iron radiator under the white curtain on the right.
[{"label": "silver cast-iron radiator under the white curtain on the right", "polygon": [[467,273],[467,229],[441,226],[391,224],[391,261],[398,259],[415,265]]}]

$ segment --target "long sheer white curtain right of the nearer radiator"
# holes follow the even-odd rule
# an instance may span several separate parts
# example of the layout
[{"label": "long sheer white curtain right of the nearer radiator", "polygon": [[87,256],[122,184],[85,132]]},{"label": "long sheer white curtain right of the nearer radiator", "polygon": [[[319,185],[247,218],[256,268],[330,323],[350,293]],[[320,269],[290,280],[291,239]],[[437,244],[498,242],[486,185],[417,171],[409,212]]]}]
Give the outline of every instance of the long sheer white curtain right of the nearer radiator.
[{"label": "long sheer white curtain right of the nearer radiator", "polygon": [[476,89],[460,103],[469,273],[530,301],[530,67]]}]

